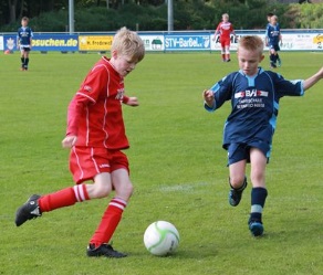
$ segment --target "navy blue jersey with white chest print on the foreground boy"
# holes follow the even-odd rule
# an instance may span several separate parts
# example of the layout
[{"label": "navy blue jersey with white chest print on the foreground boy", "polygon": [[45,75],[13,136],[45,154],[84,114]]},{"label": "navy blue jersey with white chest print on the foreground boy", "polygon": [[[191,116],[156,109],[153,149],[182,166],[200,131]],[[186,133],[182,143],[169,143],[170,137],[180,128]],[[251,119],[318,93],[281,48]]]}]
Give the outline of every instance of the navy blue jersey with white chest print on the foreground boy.
[{"label": "navy blue jersey with white chest print on the foreground boy", "polygon": [[226,120],[223,133],[223,148],[230,144],[249,144],[263,141],[272,144],[279,101],[283,96],[302,96],[303,81],[286,81],[280,74],[263,71],[248,76],[242,71],[231,73],[216,83],[212,107],[205,104],[205,108],[215,112],[227,101],[231,102],[231,114]]}]

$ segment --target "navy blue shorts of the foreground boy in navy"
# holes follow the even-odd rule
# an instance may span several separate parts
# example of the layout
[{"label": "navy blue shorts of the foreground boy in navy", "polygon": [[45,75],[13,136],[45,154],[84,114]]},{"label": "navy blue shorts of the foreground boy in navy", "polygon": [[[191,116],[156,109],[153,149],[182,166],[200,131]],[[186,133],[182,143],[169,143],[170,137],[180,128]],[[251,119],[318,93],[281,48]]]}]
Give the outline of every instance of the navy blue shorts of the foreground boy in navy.
[{"label": "navy blue shorts of the foreground boy in navy", "polygon": [[258,148],[267,157],[267,162],[269,162],[269,157],[271,152],[271,145],[262,141],[254,140],[248,144],[230,144],[228,146],[228,166],[233,165],[240,160],[247,160],[250,162],[250,149]]}]

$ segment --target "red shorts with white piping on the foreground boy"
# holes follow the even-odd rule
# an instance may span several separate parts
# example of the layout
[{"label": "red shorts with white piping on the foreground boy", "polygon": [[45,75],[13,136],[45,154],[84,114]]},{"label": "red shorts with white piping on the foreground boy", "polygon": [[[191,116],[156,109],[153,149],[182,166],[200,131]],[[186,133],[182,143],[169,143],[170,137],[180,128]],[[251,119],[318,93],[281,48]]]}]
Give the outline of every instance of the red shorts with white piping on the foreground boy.
[{"label": "red shorts with white piping on the foreground boy", "polygon": [[127,156],[119,150],[97,147],[73,147],[70,154],[70,171],[79,184],[85,180],[94,180],[102,172],[113,172],[125,168],[129,172]]}]

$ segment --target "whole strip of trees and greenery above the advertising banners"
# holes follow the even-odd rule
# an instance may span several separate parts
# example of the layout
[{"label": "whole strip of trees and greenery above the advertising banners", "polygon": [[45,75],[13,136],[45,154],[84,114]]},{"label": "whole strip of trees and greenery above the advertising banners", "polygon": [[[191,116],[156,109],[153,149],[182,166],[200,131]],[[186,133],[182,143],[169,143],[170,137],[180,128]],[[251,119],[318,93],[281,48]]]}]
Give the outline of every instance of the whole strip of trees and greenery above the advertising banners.
[{"label": "whole strip of trees and greenery above the advertising banners", "polygon": [[[283,29],[319,29],[323,3],[283,4],[267,0],[173,0],[174,30],[212,30],[229,13],[236,30],[264,29],[267,13],[279,17]],[[167,0],[74,0],[75,32],[167,30]],[[0,31],[14,32],[22,17],[34,32],[65,32],[69,0],[8,0],[0,2]]]}]

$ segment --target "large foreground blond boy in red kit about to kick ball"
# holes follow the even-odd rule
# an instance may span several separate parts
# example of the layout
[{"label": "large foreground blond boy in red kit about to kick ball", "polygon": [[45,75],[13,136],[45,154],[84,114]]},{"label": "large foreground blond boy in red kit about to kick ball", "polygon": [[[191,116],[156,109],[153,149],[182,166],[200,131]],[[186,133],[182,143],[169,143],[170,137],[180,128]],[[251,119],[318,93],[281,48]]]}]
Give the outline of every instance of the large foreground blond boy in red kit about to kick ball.
[{"label": "large foreground blond boy in red kit about to kick ball", "polygon": [[[90,71],[69,105],[64,148],[71,148],[70,170],[74,187],[45,195],[33,194],[18,209],[15,224],[76,202],[107,197],[101,223],[90,240],[87,256],[124,257],[108,244],[133,193],[122,103],[138,106],[136,97],[124,95],[124,77],[145,56],[144,43],[135,32],[122,28],[114,36],[111,59],[103,56]],[[92,180],[93,183],[85,183]]]}]

